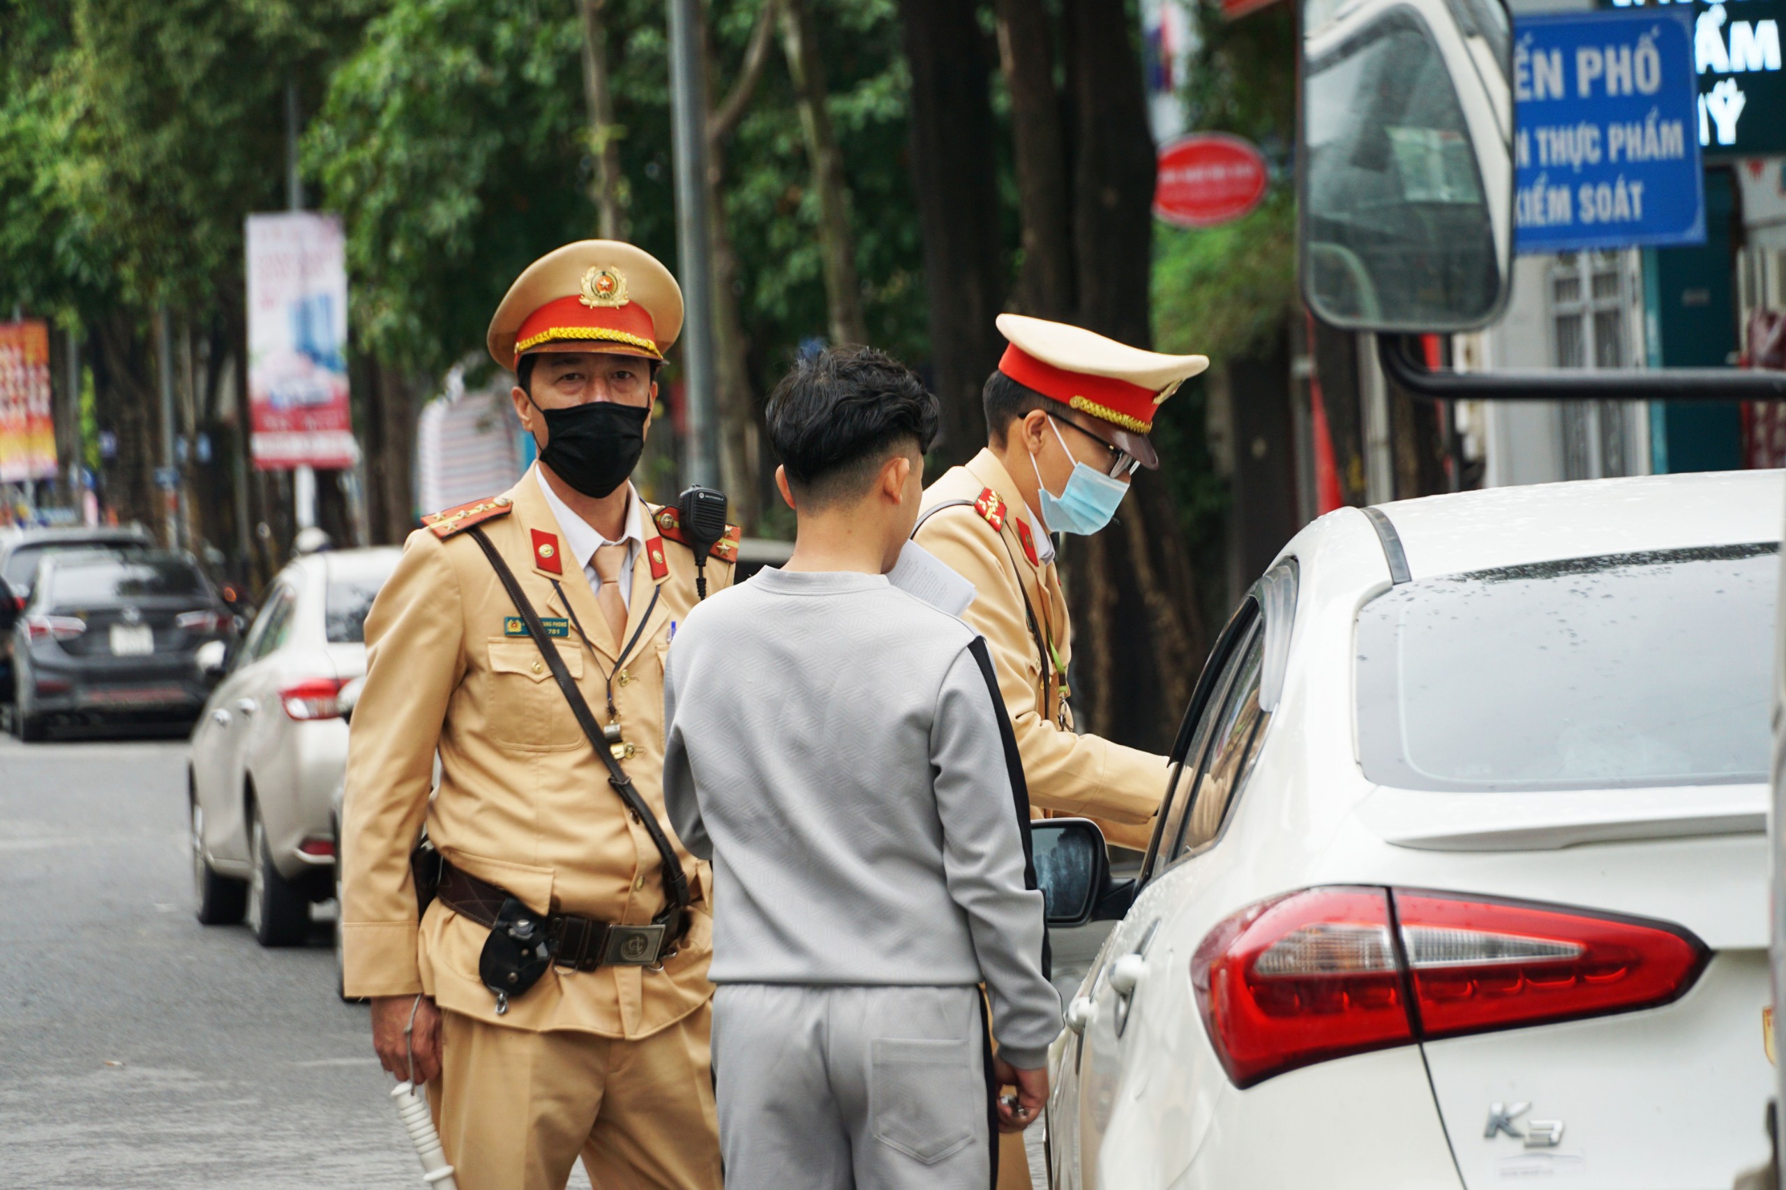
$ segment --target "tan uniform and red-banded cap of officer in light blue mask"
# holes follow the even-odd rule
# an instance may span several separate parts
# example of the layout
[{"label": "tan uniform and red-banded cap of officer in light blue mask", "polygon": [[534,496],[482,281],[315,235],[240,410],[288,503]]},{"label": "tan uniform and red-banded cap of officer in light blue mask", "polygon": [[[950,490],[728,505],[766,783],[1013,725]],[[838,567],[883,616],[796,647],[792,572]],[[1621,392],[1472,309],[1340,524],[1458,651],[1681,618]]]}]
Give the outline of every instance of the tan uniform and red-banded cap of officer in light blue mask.
[{"label": "tan uniform and red-banded cap of officer in light blue mask", "polygon": [[[1161,356],[1039,318],[1000,314],[1009,339],[998,370],[1081,416],[1106,423],[1118,447],[1157,465],[1147,432],[1154,411],[1204,356]],[[1066,668],[1073,624],[1050,543],[989,448],[952,466],[923,491],[916,541],[973,584],[963,620],[991,649],[1031,813],[1095,818],[1106,838],[1147,849],[1166,792],[1166,758],[1073,731]],[[1000,1136],[998,1190],[1029,1190],[1022,1133]]]}]

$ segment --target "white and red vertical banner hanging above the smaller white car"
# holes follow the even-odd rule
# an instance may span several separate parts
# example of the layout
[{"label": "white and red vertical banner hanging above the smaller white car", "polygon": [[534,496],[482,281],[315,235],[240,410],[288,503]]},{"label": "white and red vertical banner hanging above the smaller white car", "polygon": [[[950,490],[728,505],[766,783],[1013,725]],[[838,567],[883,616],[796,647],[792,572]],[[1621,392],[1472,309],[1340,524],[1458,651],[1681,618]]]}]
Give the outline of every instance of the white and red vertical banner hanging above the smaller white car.
[{"label": "white and red vertical banner hanging above the smaller white car", "polygon": [[341,222],[248,216],[248,438],[263,472],[352,466]]}]

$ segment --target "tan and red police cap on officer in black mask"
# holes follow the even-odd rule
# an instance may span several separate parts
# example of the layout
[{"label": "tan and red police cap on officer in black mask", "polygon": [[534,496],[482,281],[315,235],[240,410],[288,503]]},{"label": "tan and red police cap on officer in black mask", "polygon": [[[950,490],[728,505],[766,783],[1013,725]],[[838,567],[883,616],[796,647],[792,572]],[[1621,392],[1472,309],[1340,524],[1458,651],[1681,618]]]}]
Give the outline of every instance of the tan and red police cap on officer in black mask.
[{"label": "tan and red police cap on officer in black mask", "polygon": [[514,279],[489,320],[489,356],[514,372],[522,356],[602,352],[663,359],[682,332],[682,289],[643,248],[579,239]]}]

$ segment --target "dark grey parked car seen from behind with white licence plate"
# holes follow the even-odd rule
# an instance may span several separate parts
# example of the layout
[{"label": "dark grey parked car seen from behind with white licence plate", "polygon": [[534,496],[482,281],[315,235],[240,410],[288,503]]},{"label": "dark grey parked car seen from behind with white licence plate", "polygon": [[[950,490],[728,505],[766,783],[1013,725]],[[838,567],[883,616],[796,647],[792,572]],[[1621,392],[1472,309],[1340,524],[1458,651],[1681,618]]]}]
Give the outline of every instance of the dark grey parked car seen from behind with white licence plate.
[{"label": "dark grey parked car seen from behind with white licence plate", "polygon": [[205,663],[234,638],[186,554],[57,552],[13,625],[13,727],[41,740],[52,720],[191,722],[211,693]]}]

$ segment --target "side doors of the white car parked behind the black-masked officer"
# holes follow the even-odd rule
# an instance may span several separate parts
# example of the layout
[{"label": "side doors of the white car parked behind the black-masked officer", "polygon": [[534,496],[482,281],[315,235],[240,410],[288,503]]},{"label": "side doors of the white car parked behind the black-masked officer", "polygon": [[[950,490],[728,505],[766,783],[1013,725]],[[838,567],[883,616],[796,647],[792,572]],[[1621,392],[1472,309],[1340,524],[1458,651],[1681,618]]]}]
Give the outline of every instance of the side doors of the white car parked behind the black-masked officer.
[{"label": "side doors of the white car parked behind the black-masked officer", "polygon": [[[234,668],[213,691],[204,724],[193,733],[193,779],[205,811],[205,849],[218,859],[248,859],[241,781],[254,717],[264,700],[266,670],[291,631],[296,593],[289,579],[268,595]],[[200,734],[202,733],[202,734]]]}]

